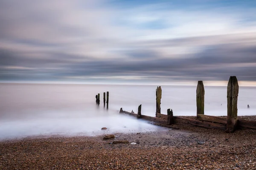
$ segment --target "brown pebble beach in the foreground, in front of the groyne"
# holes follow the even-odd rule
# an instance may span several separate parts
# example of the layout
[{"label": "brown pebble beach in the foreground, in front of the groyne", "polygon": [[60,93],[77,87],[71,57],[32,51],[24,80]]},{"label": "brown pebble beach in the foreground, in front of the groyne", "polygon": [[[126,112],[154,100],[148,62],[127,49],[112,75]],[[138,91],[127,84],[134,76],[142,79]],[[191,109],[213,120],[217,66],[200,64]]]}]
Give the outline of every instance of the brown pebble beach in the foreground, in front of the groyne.
[{"label": "brown pebble beach in the foreground, in front of the groyne", "polygon": [[[256,130],[173,125],[155,132],[32,136],[0,142],[3,170],[256,169]],[[128,143],[113,144],[114,141]],[[136,144],[131,144],[132,142]]]}]

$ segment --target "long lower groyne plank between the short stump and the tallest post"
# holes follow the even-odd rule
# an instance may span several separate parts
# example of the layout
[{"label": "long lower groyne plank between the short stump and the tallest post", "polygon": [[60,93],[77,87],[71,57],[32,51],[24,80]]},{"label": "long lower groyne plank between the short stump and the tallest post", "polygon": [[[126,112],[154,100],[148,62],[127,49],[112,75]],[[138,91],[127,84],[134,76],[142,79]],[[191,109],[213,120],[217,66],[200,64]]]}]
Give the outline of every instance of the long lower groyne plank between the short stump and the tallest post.
[{"label": "long lower groyne plank between the short stump and the tallest post", "polygon": [[189,124],[189,125],[206,127],[206,128],[210,128],[210,129],[221,129],[221,130],[226,129],[226,126],[223,125],[223,124],[204,122],[204,121],[201,121],[201,120],[187,119],[187,118],[177,117],[177,116],[173,116],[173,118],[174,118],[175,124],[177,122],[180,122],[180,123],[186,123],[186,124]]}]

